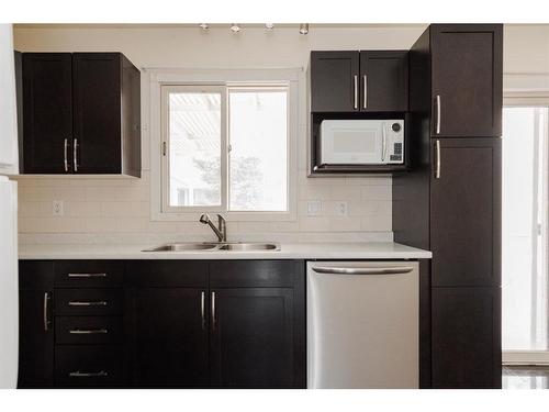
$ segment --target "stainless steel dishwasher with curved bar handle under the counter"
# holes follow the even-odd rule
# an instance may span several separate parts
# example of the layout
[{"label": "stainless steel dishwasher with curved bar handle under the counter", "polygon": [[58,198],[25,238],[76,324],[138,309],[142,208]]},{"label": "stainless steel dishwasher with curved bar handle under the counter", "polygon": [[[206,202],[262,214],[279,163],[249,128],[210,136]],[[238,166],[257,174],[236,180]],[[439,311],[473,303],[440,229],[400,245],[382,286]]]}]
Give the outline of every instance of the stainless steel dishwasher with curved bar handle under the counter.
[{"label": "stainless steel dishwasher with curved bar handle under the counter", "polygon": [[417,261],[307,263],[307,388],[418,388]]}]

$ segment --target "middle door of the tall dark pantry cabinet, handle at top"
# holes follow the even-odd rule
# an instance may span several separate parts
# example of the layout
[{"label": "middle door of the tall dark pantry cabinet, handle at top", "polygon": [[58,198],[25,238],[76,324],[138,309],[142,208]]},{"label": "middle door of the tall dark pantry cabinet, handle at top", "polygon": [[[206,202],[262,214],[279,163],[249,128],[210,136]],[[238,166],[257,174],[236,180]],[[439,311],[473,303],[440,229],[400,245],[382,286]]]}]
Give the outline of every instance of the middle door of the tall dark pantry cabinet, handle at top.
[{"label": "middle door of the tall dark pantry cabinet, handle at top", "polygon": [[[440,145],[437,151],[437,142]],[[430,249],[433,286],[501,285],[500,138],[432,144]]]}]

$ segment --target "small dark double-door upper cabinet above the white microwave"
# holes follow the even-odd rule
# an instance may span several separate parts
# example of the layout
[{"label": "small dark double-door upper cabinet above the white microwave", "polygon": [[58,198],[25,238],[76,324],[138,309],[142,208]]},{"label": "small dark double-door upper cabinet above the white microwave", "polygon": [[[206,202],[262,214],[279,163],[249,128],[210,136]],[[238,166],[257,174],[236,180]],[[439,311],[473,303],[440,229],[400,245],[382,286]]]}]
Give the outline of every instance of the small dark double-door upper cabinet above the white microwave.
[{"label": "small dark double-door upper cabinet above the white microwave", "polygon": [[407,51],[311,52],[311,111],[407,111]]}]

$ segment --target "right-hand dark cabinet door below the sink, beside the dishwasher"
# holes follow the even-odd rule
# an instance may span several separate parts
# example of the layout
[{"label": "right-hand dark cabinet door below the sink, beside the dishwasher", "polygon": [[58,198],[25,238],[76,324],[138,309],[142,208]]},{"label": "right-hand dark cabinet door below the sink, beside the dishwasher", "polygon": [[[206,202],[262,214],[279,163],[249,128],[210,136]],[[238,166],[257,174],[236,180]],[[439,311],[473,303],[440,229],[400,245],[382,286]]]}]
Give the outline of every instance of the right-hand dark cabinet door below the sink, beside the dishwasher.
[{"label": "right-hand dark cabinet door below the sink, beside the dishwasher", "polygon": [[213,290],[210,325],[213,387],[295,386],[292,289]]}]

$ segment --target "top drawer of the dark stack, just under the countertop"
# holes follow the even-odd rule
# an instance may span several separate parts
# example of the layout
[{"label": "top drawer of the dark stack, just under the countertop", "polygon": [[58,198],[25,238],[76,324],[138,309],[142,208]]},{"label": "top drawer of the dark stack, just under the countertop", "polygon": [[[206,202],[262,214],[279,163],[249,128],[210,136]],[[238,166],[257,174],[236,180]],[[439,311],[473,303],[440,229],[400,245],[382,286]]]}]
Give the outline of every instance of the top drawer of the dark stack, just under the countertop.
[{"label": "top drawer of the dark stack, just under the countertop", "polygon": [[122,286],[124,263],[116,260],[60,260],[55,263],[56,288]]}]

